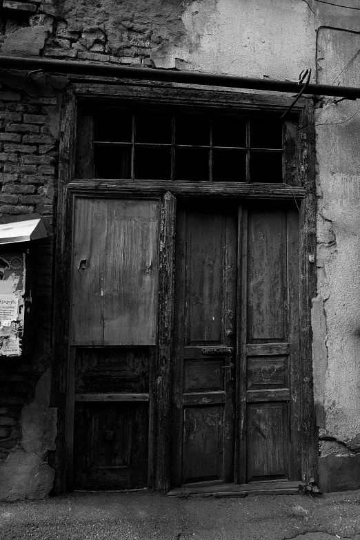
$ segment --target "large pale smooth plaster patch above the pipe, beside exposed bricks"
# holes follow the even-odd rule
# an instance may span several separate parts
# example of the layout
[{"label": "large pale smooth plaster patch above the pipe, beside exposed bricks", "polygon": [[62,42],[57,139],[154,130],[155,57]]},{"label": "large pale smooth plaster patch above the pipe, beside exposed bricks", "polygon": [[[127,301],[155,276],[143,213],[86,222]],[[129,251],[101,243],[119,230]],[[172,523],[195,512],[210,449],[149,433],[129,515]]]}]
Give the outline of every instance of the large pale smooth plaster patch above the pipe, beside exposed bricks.
[{"label": "large pale smooth plaster patch above the pipe, beside exposed bricks", "polygon": [[186,36],[154,50],[155,66],[291,80],[314,71],[314,16],[299,0],[195,0],[181,18]]}]

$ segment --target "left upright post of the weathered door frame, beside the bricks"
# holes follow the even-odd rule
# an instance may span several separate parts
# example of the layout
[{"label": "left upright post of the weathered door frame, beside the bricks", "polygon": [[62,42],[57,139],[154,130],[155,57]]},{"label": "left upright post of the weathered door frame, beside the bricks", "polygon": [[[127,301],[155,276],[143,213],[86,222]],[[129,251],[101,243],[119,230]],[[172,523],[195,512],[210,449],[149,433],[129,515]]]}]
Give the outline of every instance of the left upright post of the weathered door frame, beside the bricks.
[{"label": "left upright post of the weathered door frame, beside the bricks", "polygon": [[[50,466],[57,471],[54,494],[65,492],[67,469],[72,470],[72,421],[74,416],[74,388],[72,369],[68,369],[68,336],[70,311],[71,215],[72,195],[66,186],[74,178],[77,99],[66,94],[63,101],[59,148],[58,199],[55,216],[57,236],[54,261],[54,317],[52,333],[51,406],[57,407],[57,450],[50,457]],[[68,418],[68,422],[67,422]]]}]

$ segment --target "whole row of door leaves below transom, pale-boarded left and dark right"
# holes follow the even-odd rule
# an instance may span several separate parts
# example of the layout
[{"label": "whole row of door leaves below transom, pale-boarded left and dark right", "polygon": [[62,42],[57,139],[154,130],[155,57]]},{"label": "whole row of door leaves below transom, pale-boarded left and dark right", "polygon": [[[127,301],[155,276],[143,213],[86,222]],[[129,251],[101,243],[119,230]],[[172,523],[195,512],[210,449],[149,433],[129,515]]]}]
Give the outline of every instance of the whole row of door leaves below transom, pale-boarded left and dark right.
[{"label": "whole row of door leaves below transom, pale-boarded left and dark right", "polygon": [[174,203],[75,199],[68,485],[300,480],[297,211]]}]

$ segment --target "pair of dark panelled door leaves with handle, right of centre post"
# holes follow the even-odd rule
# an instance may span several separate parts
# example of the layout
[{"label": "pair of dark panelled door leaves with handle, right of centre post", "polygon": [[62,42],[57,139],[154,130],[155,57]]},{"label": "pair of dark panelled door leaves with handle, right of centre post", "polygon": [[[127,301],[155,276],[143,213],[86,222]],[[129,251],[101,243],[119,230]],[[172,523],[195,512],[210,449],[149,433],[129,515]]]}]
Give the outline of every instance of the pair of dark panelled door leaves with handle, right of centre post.
[{"label": "pair of dark panelled door leaves with handle, right of centre post", "polygon": [[301,479],[298,221],[178,205],[173,487]]}]

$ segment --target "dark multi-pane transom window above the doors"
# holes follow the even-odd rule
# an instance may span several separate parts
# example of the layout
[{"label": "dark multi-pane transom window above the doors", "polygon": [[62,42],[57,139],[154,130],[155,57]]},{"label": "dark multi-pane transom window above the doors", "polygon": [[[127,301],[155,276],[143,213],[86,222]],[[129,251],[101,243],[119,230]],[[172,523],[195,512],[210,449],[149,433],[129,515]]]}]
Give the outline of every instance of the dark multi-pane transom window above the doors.
[{"label": "dark multi-pane transom window above the doors", "polygon": [[279,115],[101,108],[90,131],[96,178],[285,182]]}]

